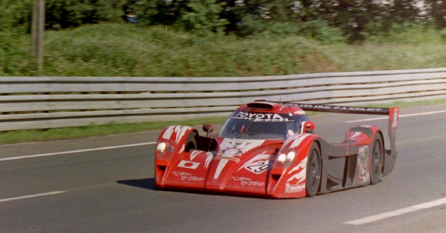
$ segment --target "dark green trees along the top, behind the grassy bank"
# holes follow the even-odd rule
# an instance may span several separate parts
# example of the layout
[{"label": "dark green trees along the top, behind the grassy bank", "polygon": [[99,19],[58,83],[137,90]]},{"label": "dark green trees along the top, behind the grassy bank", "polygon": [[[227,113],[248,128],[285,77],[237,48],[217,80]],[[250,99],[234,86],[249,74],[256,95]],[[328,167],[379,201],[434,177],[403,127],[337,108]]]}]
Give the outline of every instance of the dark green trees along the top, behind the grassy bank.
[{"label": "dark green trees along the top, behind the grassy bank", "polygon": [[[33,0],[0,0],[14,6],[13,19],[29,32]],[[273,35],[303,34],[322,43],[355,42],[366,37],[378,40],[386,36],[387,25],[410,21],[438,20],[444,11],[434,5],[420,9],[412,0],[383,6],[376,1],[333,0],[46,0],[47,28],[70,28],[98,22],[123,22],[136,15],[140,25],[169,25],[175,29],[235,34],[241,37],[260,33]],[[446,2],[442,1],[444,4]],[[7,7],[4,7],[7,8]],[[435,17],[429,17],[434,14]],[[133,18],[133,16],[132,16]],[[376,23],[376,20],[382,20]],[[368,27],[378,25],[379,27]],[[403,25],[404,26],[404,25]],[[368,27],[368,29],[367,29]],[[396,28],[396,27],[395,27]],[[396,38],[393,38],[396,39]],[[389,39],[389,40],[393,40]],[[379,39],[380,40],[380,39]]]}]

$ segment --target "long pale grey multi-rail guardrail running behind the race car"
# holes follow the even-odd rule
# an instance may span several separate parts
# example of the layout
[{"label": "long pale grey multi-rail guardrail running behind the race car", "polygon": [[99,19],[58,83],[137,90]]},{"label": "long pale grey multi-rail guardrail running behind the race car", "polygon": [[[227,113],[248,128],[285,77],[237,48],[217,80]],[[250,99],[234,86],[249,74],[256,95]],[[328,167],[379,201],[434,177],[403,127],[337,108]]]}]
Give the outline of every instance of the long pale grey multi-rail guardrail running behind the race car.
[{"label": "long pale grey multi-rail guardrail running behind the race car", "polygon": [[228,115],[256,99],[446,98],[446,68],[233,78],[0,77],[0,131]]}]

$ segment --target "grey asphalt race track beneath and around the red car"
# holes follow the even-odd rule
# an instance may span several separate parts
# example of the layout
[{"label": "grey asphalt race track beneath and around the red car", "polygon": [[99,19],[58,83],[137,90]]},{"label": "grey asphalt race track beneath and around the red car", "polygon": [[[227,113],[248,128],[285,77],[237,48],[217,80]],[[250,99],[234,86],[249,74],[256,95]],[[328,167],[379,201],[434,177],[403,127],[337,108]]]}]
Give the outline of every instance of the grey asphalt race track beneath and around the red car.
[{"label": "grey asphalt race track beneath and around the red car", "polygon": [[[401,114],[395,170],[376,185],[312,198],[270,200],[157,191],[155,145],[0,160],[0,233],[446,233],[446,204],[359,225],[348,224],[446,198],[446,105]],[[339,142],[370,115],[311,117],[316,133]],[[154,142],[158,131],[0,146],[0,159],[128,143]],[[387,136],[387,135],[386,135]],[[30,196],[34,195],[34,196]],[[409,208],[410,209],[410,208]],[[401,211],[400,211],[401,212]]]}]

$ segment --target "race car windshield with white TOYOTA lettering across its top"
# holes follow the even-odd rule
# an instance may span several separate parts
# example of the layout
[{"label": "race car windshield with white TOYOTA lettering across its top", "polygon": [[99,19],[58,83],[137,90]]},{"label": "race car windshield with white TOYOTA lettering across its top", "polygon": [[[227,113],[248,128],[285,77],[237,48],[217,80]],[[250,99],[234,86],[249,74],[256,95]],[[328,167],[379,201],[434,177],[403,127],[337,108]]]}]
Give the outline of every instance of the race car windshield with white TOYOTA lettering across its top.
[{"label": "race car windshield with white TOYOTA lettering across its top", "polygon": [[286,139],[300,131],[306,115],[236,111],[223,124],[219,136],[237,139]]}]

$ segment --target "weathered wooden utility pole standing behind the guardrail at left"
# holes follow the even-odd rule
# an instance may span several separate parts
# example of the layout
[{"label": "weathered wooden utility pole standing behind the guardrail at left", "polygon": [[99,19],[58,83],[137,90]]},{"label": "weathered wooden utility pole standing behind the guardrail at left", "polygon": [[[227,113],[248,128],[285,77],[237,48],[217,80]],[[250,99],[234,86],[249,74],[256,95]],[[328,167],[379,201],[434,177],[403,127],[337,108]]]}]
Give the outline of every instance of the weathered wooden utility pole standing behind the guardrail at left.
[{"label": "weathered wooden utility pole standing behind the guardrail at left", "polygon": [[39,70],[43,69],[43,43],[45,32],[45,0],[35,0],[33,3],[33,18],[31,23],[32,50],[31,57],[37,63]]}]

